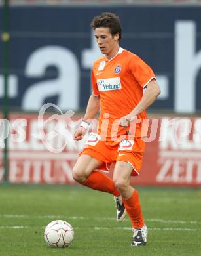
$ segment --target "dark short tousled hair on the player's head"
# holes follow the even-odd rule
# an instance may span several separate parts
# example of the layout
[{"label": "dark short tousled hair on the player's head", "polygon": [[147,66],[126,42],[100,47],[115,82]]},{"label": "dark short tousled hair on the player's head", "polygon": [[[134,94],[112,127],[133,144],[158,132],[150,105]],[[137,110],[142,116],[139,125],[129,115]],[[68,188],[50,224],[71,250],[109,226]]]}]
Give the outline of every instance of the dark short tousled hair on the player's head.
[{"label": "dark short tousled hair on the player's head", "polygon": [[115,13],[103,12],[100,15],[94,17],[91,28],[109,28],[111,35],[117,35],[119,33],[119,41],[122,38],[122,27],[120,24],[120,19]]}]

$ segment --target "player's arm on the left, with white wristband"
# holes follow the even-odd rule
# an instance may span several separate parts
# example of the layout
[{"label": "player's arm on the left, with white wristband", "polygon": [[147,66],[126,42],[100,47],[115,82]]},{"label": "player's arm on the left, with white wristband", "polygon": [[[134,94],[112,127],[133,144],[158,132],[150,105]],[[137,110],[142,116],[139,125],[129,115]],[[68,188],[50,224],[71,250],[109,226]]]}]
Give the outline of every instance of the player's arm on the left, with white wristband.
[{"label": "player's arm on the left, with white wristband", "polygon": [[[94,95],[94,93],[92,93],[92,95],[88,100],[86,113],[84,115],[82,124],[74,133],[74,137],[73,137],[74,140],[81,140],[84,137],[87,131],[87,126],[89,124],[88,120],[93,119],[96,116],[96,114],[98,114],[99,110],[100,110],[100,96]],[[86,125],[84,125],[84,123],[86,123]]]}]

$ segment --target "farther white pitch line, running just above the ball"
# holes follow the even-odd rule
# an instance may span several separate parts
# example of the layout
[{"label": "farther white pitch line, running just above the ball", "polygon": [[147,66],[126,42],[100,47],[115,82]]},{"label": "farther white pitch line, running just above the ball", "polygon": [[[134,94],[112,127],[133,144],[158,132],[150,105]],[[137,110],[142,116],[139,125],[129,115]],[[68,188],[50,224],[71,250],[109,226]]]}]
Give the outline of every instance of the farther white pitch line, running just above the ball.
[{"label": "farther white pitch line, running just above the ball", "polygon": [[[83,216],[65,216],[65,215],[10,215],[10,214],[0,214],[0,217],[5,218],[31,218],[31,219],[80,219],[80,220],[91,220],[96,221],[105,220],[105,221],[116,221],[116,218],[113,217],[83,217]],[[146,221],[153,221],[158,223],[179,223],[179,224],[201,224],[201,221],[181,221],[181,220],[165,220],[165,219],[146,219]]]}]

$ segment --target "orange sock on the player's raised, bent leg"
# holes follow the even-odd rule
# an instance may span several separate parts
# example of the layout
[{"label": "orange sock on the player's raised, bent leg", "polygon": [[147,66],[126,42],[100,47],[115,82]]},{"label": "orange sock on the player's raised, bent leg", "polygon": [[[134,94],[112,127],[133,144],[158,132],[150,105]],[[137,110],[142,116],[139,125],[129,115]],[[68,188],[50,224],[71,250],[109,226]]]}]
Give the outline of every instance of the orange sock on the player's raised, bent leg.
[{"label": "orange sock on the player's raised, bent leg", "polygon": [[82,185],[88,186],[94,190],[113,194],[114,196],[120,196],[119,191],[115,188],[113,180],[99,171],[92,171],[88,179],[84,181]]}]

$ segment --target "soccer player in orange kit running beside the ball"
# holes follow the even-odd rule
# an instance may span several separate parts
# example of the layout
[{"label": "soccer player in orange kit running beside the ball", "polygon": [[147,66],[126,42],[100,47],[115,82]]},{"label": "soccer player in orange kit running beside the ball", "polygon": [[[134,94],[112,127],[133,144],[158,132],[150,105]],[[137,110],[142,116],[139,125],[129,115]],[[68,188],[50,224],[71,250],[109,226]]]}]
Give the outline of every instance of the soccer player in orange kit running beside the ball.
[{"label": "soccer player in orange kit running beside the ball", "polygon": [[[93,93],[88,100],[81,126],[74,140],[81,140],[90,120],[100,110],[97,133],[91,133],[73,168],[73,179],[94,190],[115,196],[117,221],[128,213],[132,222],[132,246],[145,245],[147,227],[141,212],[137,190],[130,177],[139,175],[145,143],[143,119],[145,109],[160,94],[153,70],[134,53],[122,49],[119,17],[102,13],[91,23],[103,56],[92,69]],[[143,88],[146,88],[143,94]],[[98,170],[115,163],[113,179]]]}]

